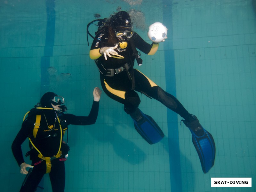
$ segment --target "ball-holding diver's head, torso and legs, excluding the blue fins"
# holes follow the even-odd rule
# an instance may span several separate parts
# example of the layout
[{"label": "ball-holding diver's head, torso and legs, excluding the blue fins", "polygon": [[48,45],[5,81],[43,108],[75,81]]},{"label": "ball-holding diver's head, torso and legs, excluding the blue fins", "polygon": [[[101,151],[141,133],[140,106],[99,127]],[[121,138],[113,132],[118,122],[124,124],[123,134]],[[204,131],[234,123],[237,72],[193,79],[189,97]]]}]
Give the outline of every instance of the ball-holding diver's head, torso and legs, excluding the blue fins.
[{"label": "ball-holding diver's head, torso and legs, excluding the blue fins", "polygon": [[133,113],[140,104],[140,98],[135,92],[138,91],[160,101],[185,120],[188,119],[188,111],[174,96],[133,68],[136,59],[134,46],[148,55],[155,54],[158,49],[158,44],[148,44],[132,31],[130,16],[124,11],[112,15],[96,34],[90,57],[96,61],[100,70],[104,92],[123,103],[128,114]]}]

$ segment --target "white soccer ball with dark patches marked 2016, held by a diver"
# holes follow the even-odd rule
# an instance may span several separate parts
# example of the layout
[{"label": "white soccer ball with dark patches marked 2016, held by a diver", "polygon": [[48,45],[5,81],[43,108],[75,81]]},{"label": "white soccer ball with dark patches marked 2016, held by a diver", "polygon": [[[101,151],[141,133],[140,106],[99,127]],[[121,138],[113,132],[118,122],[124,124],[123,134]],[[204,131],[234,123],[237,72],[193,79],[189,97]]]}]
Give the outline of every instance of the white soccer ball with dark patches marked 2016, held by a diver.
[{"label": "white soccer ball with dark patches marked 2016, held by a diver", "polygon": [[163,23],[155,22],[148,28],[148,38],[154,43],[162,42],[167,36],[167,28]]}]

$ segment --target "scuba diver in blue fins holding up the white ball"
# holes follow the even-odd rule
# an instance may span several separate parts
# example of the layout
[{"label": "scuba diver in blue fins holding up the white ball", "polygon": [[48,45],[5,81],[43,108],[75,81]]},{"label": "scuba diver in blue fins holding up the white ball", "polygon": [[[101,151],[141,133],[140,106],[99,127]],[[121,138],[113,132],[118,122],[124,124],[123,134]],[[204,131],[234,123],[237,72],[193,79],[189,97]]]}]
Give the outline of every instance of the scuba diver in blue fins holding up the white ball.
[{"label": "scuba diver in blue fins holding up the white ball", "polygon": [[[99,27],[96,36],[93,37],[89,33],[89,26],[95,21],[99,21]],[[154,55],[158,43],[148,44],[134,32],[130,15],[125,11],[117,12],[108,19],[90,22],[87,25],[87,40],[88,34],[93,38],[90,58],[95,60],[100,71],[103,91],[108,97],[124,104],[124,111],[132,117],[134,127],[140,135],[149,144],[157,143],[164,137],[164,133],[152,117],[138,108],[140,98],[137,92],[160,101],[184,118],[182,121],[192,133],[193,144],[203,171],[208,172],[215,158],[212,135],[202,127],[195,115],[188,113],[179,100],[134,68],[135,60],[139,66],[142,64],[137,48],[145,54]]]}]

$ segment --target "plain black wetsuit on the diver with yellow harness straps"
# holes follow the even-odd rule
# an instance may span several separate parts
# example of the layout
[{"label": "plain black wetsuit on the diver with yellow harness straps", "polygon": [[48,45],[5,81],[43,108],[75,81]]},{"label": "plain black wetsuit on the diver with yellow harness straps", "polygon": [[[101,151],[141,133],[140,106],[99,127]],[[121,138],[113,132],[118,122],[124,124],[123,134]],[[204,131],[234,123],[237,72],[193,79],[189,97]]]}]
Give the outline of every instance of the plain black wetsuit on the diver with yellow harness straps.
[{"label": "plain black wetsuit on the diver with yellow harness straps", "polygon": [[[51,109],[35,109],[32,114],[28,115],[22,124],[22,127],[17,134],[16,138],[12,143],[12,153],[18,163],[22,164],[24,161],[21,144],[30,138],[36,148],[45,157],[51,157],[58,154],[59,150],[63,150],[63,129],[65,130],[65,125],[90,125],[96,122],[99,111],[99,102],[93,101],[92,109],[89,116],[75,116],[72,114],[59,113],[59,119],[62,122],[66,120],[65,124],[59,124],[58,118],[56,119],[56,111]],[[38,132],[36,134],[36,139],[33,136],[34,124],[36,122],[36,115],[41,115],[41,122]],[[61,126],[60,126],[61,125]],[[26,176],[20,191],[32,192],[36,190],[39,182],[43,178],[46,172],[46,161],[35,165],[41,161],[37,156],[38,152],[35,148],[30,151],[30,159],[32,160],[32,165],[34,168],[32,172]],[[65,157],[65,156],[64,156]],[[51,160],[52,168],[49,173],[52,191],[62,192],[65,188],[65,166],[64,161],[60,161],[61,157]],[[30,170],[31,171],[31,170]]]}]

